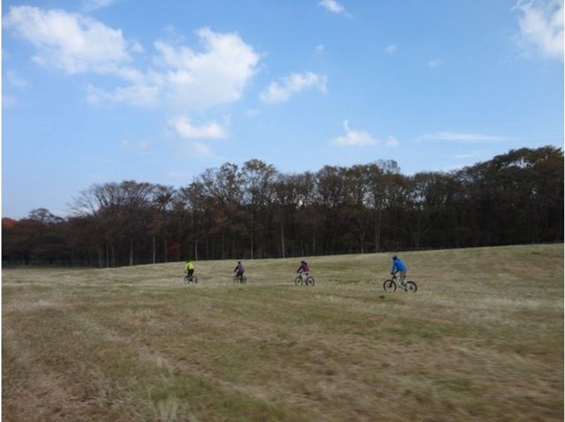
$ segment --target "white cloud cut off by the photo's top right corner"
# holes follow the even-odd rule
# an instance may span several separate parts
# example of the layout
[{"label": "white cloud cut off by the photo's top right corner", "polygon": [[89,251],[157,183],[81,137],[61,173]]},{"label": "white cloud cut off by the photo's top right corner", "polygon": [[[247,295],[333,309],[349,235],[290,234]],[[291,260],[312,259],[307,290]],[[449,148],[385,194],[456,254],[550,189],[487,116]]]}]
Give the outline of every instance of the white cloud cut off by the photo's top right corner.
[{"label": "white cloud cut off by the photo's top right corner", "polygon": [[533,44],[544,56],[564,59],[564,13],[561,0],[518,1],[521,44]]}]

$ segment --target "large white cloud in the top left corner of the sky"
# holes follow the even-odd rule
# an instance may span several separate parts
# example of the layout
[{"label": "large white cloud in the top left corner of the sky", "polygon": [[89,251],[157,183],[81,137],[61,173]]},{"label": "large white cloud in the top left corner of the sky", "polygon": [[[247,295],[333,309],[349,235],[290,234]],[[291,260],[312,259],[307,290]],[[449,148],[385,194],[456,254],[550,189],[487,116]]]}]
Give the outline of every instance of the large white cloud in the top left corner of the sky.
[{"label": "large white cloud in the top left corner of the sky", "polygon": [[33,59],[69,74],[117,73],[141,46],[88,16],[32,6],[11,7],[4,25],[36,48]]}]

